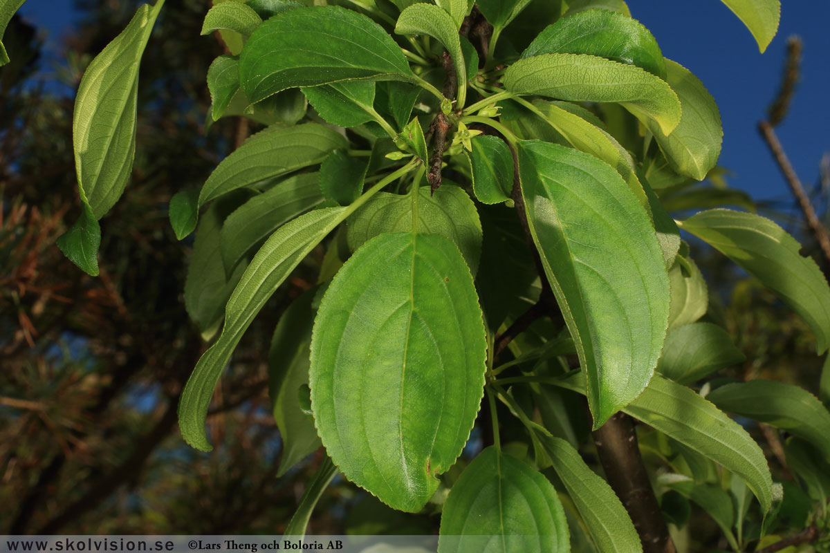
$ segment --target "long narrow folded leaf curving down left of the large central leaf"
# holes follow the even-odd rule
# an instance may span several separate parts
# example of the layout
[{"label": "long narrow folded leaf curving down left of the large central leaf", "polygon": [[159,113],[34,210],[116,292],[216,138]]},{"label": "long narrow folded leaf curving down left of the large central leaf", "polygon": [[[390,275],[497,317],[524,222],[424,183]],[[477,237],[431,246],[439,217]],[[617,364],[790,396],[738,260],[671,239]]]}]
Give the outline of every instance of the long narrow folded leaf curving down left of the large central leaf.
[{"label": "long narrow folded leaf curving down left of the large central leaf", "polygon": [[212,449],[205,434],[207,409],[222,369],[242,334],[271,294],[320,240],[343,221],[346,212],[345,207],[311,211],[281,226],[242,274],[227,302],[222,334],[199,359],[178,404],[178,427],[193,448]]}]

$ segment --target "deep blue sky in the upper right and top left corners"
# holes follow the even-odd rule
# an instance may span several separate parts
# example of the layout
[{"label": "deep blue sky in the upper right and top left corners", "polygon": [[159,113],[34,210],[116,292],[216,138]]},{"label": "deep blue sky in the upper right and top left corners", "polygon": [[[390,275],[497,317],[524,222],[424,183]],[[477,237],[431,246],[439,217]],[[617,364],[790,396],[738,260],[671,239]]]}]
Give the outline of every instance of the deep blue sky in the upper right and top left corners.
[{"label": "deep blue sky in the upper right and top left corners", "polygon": [[[717,0],[629,0],[628,5],[663,54],[694,72],[715,97],[725,133],[720,164],[735,172],[731,186],[759,199],[789,194],[755,127],[778,88],[787,37],[801,36],[802,80],[778,133],[803,182],[816,181],[818,162],[830,152],[830,2],[784,2],[779,33],[763,55],[749,31]],[[60,51],[61,35],[71,32],[71,0],[28,0],[21,12],[44,29],[53,51]]]}]

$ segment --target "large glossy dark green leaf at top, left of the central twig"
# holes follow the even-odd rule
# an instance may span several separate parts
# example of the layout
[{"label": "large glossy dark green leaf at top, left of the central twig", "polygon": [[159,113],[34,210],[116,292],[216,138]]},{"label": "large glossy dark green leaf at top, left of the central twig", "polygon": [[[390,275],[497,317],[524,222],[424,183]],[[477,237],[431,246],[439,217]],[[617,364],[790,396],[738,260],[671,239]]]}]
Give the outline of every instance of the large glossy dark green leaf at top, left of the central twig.
[{"label": "large glossy dark green leaf at top, left of the central twig", "polygon": [[369,17],[338,6],[298,7],[262,23],[239,59],[251,103],[294,86],[409,80],[400,46]]}]

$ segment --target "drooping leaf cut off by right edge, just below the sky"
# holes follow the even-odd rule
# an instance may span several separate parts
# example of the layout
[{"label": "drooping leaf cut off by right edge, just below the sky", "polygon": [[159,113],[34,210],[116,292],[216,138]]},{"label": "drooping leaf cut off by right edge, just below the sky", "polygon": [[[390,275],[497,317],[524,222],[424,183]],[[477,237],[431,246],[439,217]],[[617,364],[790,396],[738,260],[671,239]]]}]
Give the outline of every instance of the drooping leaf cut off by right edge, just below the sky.
[{"label": "drooping leaf cut off by right edge, just below the sky", "polygon": [[800,245],[773,221],[752,213],[713,209],[691,216],[681,225],[759,279],[807,321],[816,335],[818,353],[830,342],[830,288]]}]

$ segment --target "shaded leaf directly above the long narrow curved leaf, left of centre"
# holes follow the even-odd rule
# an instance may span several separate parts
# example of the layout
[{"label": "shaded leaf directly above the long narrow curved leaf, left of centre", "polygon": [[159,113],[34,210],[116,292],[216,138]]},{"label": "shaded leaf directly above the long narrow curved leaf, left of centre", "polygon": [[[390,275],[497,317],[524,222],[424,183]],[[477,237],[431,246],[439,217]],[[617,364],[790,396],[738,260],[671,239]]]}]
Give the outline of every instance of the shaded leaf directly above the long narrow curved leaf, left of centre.
[{"label": "shaded leaf directly above the long narrow curved leaf, left of centre", "polygon": [[277,228],[323,201],[320,175],[307,172],[289,177],[242,204],[222,226],[219,246],[226,273]]}]

